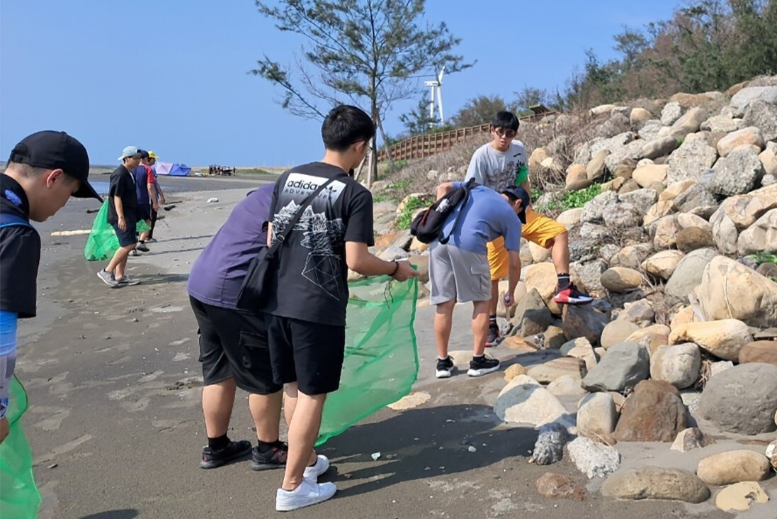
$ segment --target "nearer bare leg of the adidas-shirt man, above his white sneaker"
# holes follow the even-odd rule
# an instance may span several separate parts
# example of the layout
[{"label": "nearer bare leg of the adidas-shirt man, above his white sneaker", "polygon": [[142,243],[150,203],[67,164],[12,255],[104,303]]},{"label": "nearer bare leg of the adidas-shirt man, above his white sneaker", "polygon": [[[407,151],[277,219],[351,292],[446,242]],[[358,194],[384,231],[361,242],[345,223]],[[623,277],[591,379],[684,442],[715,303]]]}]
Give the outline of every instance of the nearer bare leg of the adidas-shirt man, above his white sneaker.
[{"label": "nearer bare leg of the adidas-shirt man, above his white sneaker", "polygon": [[321,413],[324,409],[326,393],[323,395],[305,395],[298,391],[294,416],[289,424],[289,453],[286,460],[286,472],[281,488],[294,490],[300,486],[305,467],[309,465],[310,453],[315,439],[319,436]]}]

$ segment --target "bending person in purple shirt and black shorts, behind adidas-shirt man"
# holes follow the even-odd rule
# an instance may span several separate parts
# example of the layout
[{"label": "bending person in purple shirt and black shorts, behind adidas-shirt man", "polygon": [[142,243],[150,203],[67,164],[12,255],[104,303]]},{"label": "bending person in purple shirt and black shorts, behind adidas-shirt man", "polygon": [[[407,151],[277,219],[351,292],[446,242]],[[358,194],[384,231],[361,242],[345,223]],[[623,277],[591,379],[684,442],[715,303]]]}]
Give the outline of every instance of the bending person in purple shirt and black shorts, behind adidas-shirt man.
[{"label": "bending person in purple shirt and black shorts, behind adidas-shirt man", "polygon": [[[286,465],[288,447],[279,439],[282,384],[273,381],[267,327],[261,314],[237,307],[249,262],[267,247],[267,219],[273,184],[251,191],[195,261],[186,289],[200,327],[202,410],[207,446],[201,468],[216,468],[252,454],[254,470]],[[235,387],[249,393],[256,447],[227,436]],[[286,414],[291,416],[287,405]],[[310,470],[319,463],[311,453]]]}]

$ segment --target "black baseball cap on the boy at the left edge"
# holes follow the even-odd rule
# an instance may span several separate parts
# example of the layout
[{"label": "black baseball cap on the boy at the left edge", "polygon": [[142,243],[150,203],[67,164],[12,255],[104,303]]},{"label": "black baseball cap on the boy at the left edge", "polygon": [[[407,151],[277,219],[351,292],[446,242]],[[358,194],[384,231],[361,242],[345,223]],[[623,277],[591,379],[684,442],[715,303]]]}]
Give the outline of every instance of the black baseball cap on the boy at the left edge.
[{"label": "black baseball cap on the boy at the left edge", "polygon": [[27,135],[13,147],[8,161],[47,170],[61,169],[81,183],[73,196],[103,202],[103,197],[89,184],[89,155],[84,145],[65,132],[45,130]]}]

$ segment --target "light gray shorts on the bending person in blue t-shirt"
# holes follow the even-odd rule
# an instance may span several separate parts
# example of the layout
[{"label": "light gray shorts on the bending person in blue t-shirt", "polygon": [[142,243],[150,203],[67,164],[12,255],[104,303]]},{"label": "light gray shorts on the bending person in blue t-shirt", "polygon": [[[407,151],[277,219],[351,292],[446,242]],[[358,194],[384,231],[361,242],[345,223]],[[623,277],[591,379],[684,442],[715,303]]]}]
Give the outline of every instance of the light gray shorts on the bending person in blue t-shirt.
[{"label": "light gray shorts on the bending person in blue t-shirt", "polygon": [[486,254],[435,241],[429,247],[429,280],[431,304],[491,299],[491,269]]}]

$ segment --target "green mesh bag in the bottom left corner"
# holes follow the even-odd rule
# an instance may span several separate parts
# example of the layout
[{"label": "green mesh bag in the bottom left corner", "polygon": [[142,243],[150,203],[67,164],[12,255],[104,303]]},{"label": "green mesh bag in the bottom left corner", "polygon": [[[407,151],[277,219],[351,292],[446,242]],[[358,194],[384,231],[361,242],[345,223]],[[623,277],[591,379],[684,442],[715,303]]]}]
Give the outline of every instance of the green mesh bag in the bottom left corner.
[{"label": "green mesh bag in the bottom left corner", "polygon": [[0,444],[0,517],[36,517],[40,493],[33,479],[33,452],[20,419],[27,410],[27,394],[16,375],[11,380],[8,437]]}]

